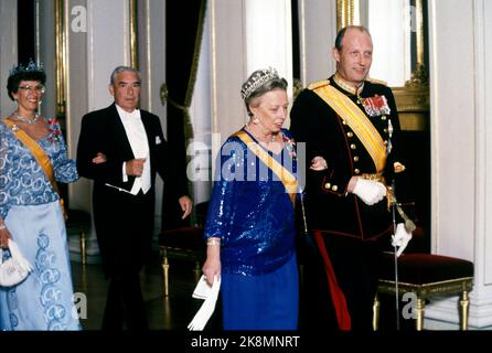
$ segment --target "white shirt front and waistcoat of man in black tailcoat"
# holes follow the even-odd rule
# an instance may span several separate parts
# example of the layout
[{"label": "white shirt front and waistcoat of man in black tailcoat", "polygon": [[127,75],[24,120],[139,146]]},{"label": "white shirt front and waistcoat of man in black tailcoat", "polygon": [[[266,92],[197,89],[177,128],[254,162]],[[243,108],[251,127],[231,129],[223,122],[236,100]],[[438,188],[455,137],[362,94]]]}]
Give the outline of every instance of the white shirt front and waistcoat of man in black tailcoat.
[{"label": "white shirt front and waistcoat of man in black tailcoat", "polygon": [[[131,113],[124,110],[121,107],[116,105],[119,118],[127,132],[128,140],[130,141],[131,151],[135,158],[147,158],[143,163],[143,171],[141,176],[135,178],[133,186],[131,186],[130,193],[136,195],[142,190],[147,193],[150,189],[150,156],[149,156],[149,142],[147,140],[146,129],[141,120],[140,110],[135,109]],[[128,181],[126,162],[122,164],[122,178],[124,182]]]}]

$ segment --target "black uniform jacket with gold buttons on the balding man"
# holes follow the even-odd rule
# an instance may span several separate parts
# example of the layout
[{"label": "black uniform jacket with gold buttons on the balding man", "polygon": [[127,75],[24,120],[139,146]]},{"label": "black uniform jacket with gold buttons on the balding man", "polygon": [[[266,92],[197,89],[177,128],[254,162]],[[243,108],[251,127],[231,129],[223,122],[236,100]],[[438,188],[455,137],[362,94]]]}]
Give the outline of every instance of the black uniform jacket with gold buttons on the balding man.
[{"label": "black uniform jacket with gold buttons on the balding man", "polygon": [[[376,173],[376,167],[357,135],[344,120],[313,92],[322,85],[332,85],[354,101],[368,116],[362,100],[367,97],[385,96],[391,113],[370,117],[384,143],[389,143],[388,121],[393,126],[392,150],[387,154],[383,175],[387,184],[395,175],[394,162],[397,161],[397,140],[399,129],[395,99],[389,87],[366,81],[359,97],[344,90],[333,79],[311,84],[297,97],[291,110],[290,130],[297,143],[306,142],[306,207],[308,226],[325,229],[333,234],[374,238],[388,233],[392,227],[392,213],[387,199],[368,206],[359,196],[346,193],[353,175]],[[321,156],[328,170],[309,170],[311,160]]]}]

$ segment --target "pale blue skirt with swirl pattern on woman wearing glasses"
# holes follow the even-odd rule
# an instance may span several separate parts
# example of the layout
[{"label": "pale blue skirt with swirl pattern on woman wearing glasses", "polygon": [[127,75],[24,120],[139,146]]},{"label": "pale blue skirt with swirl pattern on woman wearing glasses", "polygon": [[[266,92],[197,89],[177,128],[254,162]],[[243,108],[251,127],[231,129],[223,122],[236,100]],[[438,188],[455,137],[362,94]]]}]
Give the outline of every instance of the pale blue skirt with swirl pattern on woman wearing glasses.
[{"label": "pale blue skirt with swirl pattern on woman wearing glasses", "polygon": [[60,203],[13,206],[4,221],[34,270],[14,287],[0,287],[0,329],[81,330]]}]

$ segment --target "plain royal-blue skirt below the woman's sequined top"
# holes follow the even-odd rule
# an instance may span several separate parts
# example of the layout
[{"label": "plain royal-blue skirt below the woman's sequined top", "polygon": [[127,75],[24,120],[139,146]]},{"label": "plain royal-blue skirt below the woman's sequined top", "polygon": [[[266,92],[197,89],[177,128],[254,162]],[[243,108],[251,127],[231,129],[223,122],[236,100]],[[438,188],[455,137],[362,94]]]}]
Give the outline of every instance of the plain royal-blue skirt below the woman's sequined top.
[{"label": "plain royal-blue skirt below the woman's sequined top", "polygon": [[297,330],[299,279],[296,256],[261,276],[222,274],[224,330]]}]

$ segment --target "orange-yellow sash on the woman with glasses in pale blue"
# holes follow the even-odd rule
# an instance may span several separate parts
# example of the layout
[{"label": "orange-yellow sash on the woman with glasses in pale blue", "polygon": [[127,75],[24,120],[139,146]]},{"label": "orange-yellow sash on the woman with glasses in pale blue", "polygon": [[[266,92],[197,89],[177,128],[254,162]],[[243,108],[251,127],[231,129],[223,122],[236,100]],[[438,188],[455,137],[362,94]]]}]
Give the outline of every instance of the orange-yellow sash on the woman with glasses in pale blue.
[{"label": "orange-yellow sash on the woman with glasses in pale blue", "polygon": [[62,207],[63,216],[66,220],[67,214],[65,211],[64,201],[60,193],[58,184],[56,183],[55,173],[53,171],[53,165],[51,164],[50,158],[46,156],[46,153],[41,148],[41,146],[39,146],[38,142],[34,139],[32,139],[28,133],[25,133],[25,131],[23,131],[19,128],[15,129],[15,124],[13,124],[12,121],[10,121],[8,119],[4,119],[3,122],[12,130],[13,135],[15,135],[15,137],[22,143],[24,143],[24,146],[31,151],[32,156],[34,156],[34,159],[38,161],[41,169],[46,174],[47,180],[50,180],[51,185],[53,186],[54,191],[58,194],[60,206]]}]

